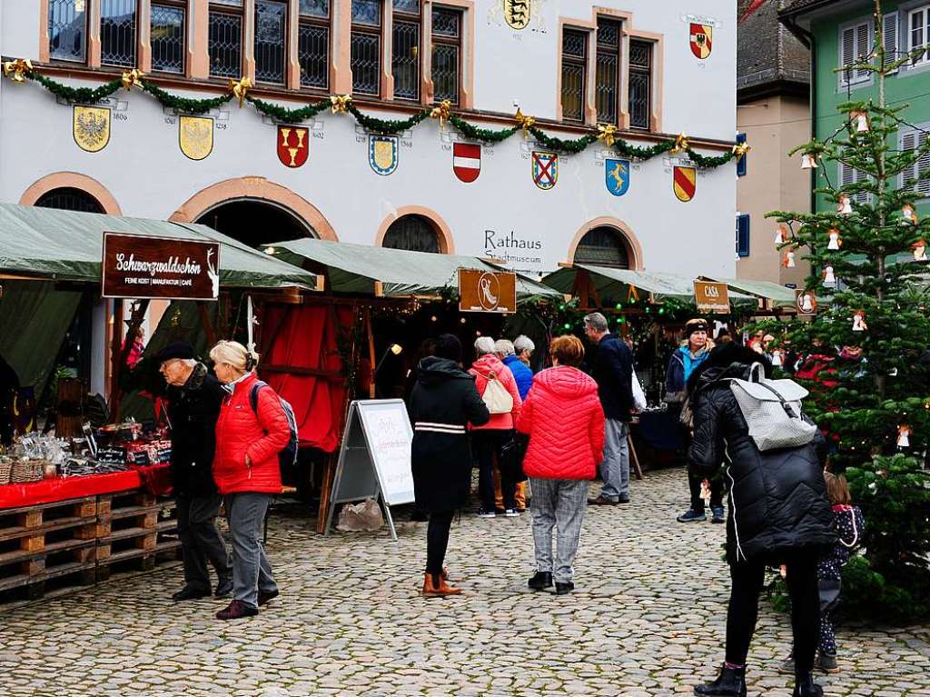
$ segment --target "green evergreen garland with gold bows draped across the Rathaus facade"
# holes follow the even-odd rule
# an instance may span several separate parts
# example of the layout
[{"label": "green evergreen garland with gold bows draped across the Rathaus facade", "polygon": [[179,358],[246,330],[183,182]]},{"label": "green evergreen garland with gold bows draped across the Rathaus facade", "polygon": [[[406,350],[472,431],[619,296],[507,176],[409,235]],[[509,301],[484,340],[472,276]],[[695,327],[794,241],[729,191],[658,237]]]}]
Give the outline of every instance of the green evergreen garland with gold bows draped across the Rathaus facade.
[{"label": "green evergreen garland with gold bows draped across the Rathaus facade", "polygon": [[[24,73],[23,76],[39,83],[42,85],[42,87],[45,87],[56,97],[69,102],[94,103],[110,97],[118,89],[123,87],[123,82],[120,79],[105,83],[96,89],[91,89],[89,87],[68,87],[67,85],[46,77],[43,74],[36,73],[34,70]],[[159,101],[159,103],[161,103],[162,106],[165,106],[169,109],[174,109],[182,114],[206,114],[206,112],[209,112],[211,109],[217,109],[223,104],[233,100],[232,93],[202,100],[177,97],[144,79],[140,81],[137,87],[140,87],[143,91],[152,95],[157,101]],[[252,106],[254,106],[261,114],[265,114],[275,121],[284,124],[301,123],[313,118],[318,114],[322,114],[326,111],[326,109],[332,106],[332,101],[329,99],[306,104],[305,106],[299,107],[297,109],[288,109],[284,106],[273,104],[270,101],[259,100],[258,98],[252,97],[248,94],[246,94],[245,99],[251,103]],[[363,114],[361,111],[359,111],[358,107],[352,103],[352,101],[349,101],[346,104],[346,111],[354,116],[355,121],[359,124],[359,126],[364,127],[366,130],[369,130],[372,133],[379,133],[383,135],[395,135],[397,133],[408,130],[417,126],[420,122],[425,121],[432,114],[432,109],[423,109],[406,119],[381,119],[375,116]],[[452,124],[453,127],[456,128],[456,130],[458,130],[459,133],[461,133],[462,136],[468,140],[480,141],[484,143],[499,143],[506,141],[512,135],[522,130],[522,127],[519,124],[512,127],[500,128],[499,130],[477,127],[456,114],[450,114],[447,120],[450,124]],[[560,153],[578,154],[584,151],[585,148],[587,148],[592,143],[598,141],[598,137],[594,133],[588,133],[576,140],[570,140],[549,136],[536,126],[528,127],[527,130],[533,135],[533,137],[542,147]],[[657,155],[670,152],[674,146],[675,141],[671,140],[661,141],[655,145],[642,146],[632,145],[630,142],[623,141],[622,139],[615,139],[610,148],[616,153],[630,157],[631,159],[648,160],[656,157]],[[734,153],[727,153],[717,156],[703,155],[696,153],[690,148],[688,148],[685,152],[699,168],[717,168],[721,165],[725,165],[730,160],[734,159],[734,157],[736,157],[736,154]]]}]

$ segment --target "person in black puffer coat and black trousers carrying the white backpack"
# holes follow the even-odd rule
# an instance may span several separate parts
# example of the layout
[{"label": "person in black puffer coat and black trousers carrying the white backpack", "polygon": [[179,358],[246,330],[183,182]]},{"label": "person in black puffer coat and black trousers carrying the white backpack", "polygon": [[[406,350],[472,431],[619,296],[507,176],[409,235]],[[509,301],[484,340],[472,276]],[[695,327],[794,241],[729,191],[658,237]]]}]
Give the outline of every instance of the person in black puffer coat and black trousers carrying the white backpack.
[{"label": "person in black puffer coat and black trousers carrying the white backpack", "polygon": [[749,380],[754,363],[771,375],[763,355],[726,343],[688,381],[694,428],[688,466],[696,476],[710,478],[726,462],[726,556],[732,579],[726,661],[720,677],[698,685],[695,693],[744,697],[765,567],[784,564],[794,634],[794,695],[820,697],[823,690],[811,677],[820,621],[817,559],[835,541],[821,461],[826,449],[819,434],[797,448],[756,447],[729,384],[729,379]]}]

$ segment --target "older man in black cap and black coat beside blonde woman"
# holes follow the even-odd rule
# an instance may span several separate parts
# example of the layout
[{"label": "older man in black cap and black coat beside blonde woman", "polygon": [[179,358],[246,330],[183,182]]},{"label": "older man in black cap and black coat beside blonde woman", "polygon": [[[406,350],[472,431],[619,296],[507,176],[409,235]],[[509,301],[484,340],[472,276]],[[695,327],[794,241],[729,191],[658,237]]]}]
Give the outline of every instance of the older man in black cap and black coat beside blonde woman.
[{"label": "older man in black cap and black coat beside blonde woman", "polygon": [[171,485],[178,503],[178,536],[184,558],[184,587],[174,600],[210,595],[207,560],[217,572],[216,596],[233,591],[233,570],[216,526],[220,497],[213,481],[219,406],[226,395],[193,346],[179,342],[157,356],[167,382],[167,418],[171,428]]}]

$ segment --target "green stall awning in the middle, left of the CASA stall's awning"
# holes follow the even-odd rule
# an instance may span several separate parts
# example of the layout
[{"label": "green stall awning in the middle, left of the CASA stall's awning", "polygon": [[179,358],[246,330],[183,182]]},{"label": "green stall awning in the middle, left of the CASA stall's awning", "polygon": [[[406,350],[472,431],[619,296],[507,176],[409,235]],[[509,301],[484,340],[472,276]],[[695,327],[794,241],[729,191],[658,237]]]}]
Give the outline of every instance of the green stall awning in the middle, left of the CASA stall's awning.
[{"label": "green stall awning in the middle, left of the CASA stall's awning", "polygon": [[[438,295],[445,288],[458,288],[458,269],[501,270],[479,259],[452,254],[389,249],[347,242],[299,239],[270,245],[274,256],[293,264],[312,261],[326,267],[334,292],[375,292],[380,281],[386,297]],[[560,298],[560,294],[522,275],[517,275],[517,300]]]}]

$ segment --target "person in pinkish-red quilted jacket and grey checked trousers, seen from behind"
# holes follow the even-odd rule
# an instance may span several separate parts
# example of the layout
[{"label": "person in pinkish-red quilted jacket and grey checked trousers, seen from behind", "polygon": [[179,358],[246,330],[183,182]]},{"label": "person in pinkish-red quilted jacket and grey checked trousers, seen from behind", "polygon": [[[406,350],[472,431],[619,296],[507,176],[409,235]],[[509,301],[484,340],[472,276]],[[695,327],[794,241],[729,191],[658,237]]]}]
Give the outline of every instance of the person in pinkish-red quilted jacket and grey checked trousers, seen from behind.
[{"label": "person in pinkish-red quilted jacket and grey checked trousers, seen from behind", "polygon": [[[538,373],[517,417],[517,430],[529,435],[524,472],[533,501],[536,574],[528,585],[541,591],[555,580],[556,595],[575,588],[572,564],[578,553],[588,484],[604,455],[604,409],[597,382],[578,370],[584,345],[561,336],[550,347],[553,368]],[[552,528],[558,529],[555,562]]]}]

